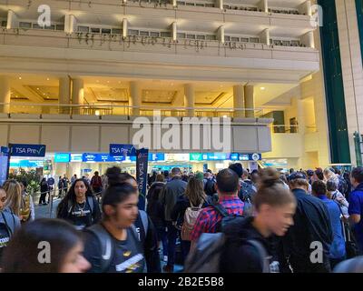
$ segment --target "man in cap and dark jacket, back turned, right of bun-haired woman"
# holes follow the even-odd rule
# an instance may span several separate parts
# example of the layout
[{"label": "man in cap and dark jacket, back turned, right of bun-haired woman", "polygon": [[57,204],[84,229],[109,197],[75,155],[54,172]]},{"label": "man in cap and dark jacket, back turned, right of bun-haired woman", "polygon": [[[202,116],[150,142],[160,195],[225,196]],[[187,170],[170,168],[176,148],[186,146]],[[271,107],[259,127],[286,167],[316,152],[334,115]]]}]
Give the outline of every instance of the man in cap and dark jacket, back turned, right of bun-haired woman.
[{"label": "man in cap and dark jacket, back turned, right of bun-haired woman", "polygon": [[[294,226],[282,239],[281,256],[285,260],[281,265],[287,270],[286,259],[289,259],[294,273],[326,273],[331,271],[329,249],[333,241],[329,212],[322,201],[307,194],[308,186],[302,173],[295,172],[289,176],[289,187],[298,205]],[[322,246],[321,250],[319,246]]]}]

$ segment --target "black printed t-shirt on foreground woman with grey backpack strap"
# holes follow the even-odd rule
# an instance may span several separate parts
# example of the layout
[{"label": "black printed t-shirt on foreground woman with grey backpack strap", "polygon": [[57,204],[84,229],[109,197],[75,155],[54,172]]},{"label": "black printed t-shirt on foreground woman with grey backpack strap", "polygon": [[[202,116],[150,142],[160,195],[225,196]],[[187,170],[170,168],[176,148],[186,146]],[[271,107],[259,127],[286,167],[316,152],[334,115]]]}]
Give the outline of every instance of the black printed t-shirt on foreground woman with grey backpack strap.
[{"label": "black printed t-shirt on foreground woman with grey backpack strap", "polygon": [[96,236],[85,233],[84,257],[91,263],[90,273],[142,273],[145,266],[142,246],[132,228],[127,229],[126,240],[117,240],[111,236],[113,242],[113,258],[106,270],[101,270],[102,249]]}]

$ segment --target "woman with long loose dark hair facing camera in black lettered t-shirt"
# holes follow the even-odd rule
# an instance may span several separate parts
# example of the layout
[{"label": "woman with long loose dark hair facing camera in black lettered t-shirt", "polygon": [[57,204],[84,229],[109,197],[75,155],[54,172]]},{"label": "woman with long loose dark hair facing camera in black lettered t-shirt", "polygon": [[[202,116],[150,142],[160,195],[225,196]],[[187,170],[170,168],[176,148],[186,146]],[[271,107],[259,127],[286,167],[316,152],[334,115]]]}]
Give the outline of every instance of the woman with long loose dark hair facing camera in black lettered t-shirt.
[{"label": "woman with long loose dark hair facing camera in black lettered t-shirt", "polygon": [[77,179],[57,208],[57,218],[62,218],[83,229],[101,219],[100,206],[85,179]]}]

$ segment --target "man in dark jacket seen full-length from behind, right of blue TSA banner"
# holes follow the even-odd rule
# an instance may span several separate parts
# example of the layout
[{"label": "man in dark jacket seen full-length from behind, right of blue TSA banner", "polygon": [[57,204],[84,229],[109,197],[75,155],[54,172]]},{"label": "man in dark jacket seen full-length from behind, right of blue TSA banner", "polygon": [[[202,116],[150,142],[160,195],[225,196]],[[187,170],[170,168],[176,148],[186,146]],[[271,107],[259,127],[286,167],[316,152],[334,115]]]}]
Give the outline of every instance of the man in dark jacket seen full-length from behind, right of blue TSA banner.
[{"label": "man in dark jacket seen full-length from behind, right of blue TSA banner", "polygon": [[173,272],[175,262],[175,244],[178,230],[172,225],[172,209],[179,196],[182,196],[187,187],[187,183],[182,181],[182,171],[179,167],[172,168],[172,180],[168,182],[159,197],[165,209],[165,221],[168,236],[168,264],[163,267],[164,272]]}]

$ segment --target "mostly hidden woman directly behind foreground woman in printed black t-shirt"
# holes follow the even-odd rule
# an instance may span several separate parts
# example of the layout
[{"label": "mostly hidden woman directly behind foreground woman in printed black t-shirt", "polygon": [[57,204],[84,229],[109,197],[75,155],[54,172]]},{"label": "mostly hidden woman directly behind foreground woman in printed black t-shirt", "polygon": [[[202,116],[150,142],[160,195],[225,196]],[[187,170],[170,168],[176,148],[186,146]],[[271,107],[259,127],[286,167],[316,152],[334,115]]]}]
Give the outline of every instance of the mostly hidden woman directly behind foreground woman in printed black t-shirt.
[{"label": "mostly hidden woman directly behind foreground woman in printed black t-shirt", "polygon": [[[127,183],[132,186],[133,190],[139,196],[139,187],[136,179],[128,173],[122,173],[121,168],[113,166],[106,171],[109,185],[119,183]],[[158,252],[158,234],[153,226],[152,220],[147,213],[139,209],[138,216],[133,224],[142,242],[143,252],[146,260],[146,267],[148,273],[161,273],[162,266]]]}]

